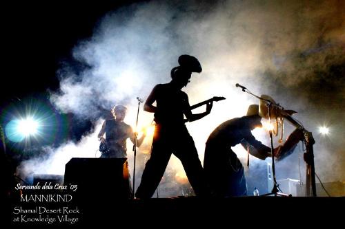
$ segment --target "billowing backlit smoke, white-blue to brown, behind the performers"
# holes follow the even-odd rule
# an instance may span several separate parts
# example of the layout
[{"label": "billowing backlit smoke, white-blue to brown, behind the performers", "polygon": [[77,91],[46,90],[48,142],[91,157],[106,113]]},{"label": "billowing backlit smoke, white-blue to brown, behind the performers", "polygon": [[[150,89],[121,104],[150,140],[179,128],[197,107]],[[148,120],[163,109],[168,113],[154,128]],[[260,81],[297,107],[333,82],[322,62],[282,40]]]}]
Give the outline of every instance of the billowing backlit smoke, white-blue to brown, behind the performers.
[{"label": "billowing backlit smoke, white-blue to brown, behind the performers", "polygon": [[[297,111],[295,118],[313,133],[316,141],[316,173],[323,182],[344,180],[344,9],[344,1],[335,0],[150,1],[109,12],[99,21],[94,34],[79,41],[72,50],[75,61],[84,67],[64,63],[58,72],[60,90],[51,94],[51,101],[61,111],[98,120],[94,131],[80,142],[46,149],[48,160],[36,164],[37,161],[29,161],[23,167],[62,174],[65,162],[81,157],[77,152],[95,157],[92,149],[96,150],[99,144],[96,135],[101,128],[100,108],[126,105],[125,122],[135,127],[136,97],[146,100],[156,84],[168,83],[170,69],[178,65],[177,58],[190,54],[203,67],[203,72],[193,74],[191,83],[184,88],[190,104],[213,96],[226,97],[214,103],[209,116],[187,124],[201,162],[204,144],[213,129],[225,120],[244,116],[248,105],[259,102],[236,88],[235,83],[239,83],[257,96],[267,94],[285,109]],[[150,124],[152,118],[152,113],[141,109],[139,126]],[[322,124],[331,128],[330,135],[318,133]],[[286,138],[295,127],[288,122],[285,126]],[[255,136],[270,144],[264,131],[256,131]],[[138,149],[136,187],[149,157],[145,153],[150,151],[150,141],[146,138]],[[274,142],[277,146],[276,138]],[[130,142],[131,149],[129,145]],[[304,179],[305,163],[303,157],[301,160],[302,147],[299,148],[277,163],[277,178]],[[245,164],[244,149],[235,147],[235,151]],[[128,156],[132,171],[131,151]],[[255,159],[252,162],[264,163]],[[177,190],[175,175],[179,171],[183,171],[181,163],[172,157],[159,186],[159,197],[189,191],[181,183]]]}]

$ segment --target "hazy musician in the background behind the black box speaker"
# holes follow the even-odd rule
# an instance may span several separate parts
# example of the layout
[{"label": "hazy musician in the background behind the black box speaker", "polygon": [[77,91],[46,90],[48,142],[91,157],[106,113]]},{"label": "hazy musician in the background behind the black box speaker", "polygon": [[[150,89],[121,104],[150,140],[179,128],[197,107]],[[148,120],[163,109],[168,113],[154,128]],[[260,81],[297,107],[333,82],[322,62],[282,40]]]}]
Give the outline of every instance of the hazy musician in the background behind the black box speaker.
[{"label": "hazy musician in the background behind the black box speaker", "polygon": [[[124,122],[126,117],[126,107],[117,105],[112,108],[112,115],[114,118],[105,120],[102,125],[101,131],[99,131],[98,138],[101,142],[108,144],[110,151],[103,153],[101,157],[113,157],[113,158],[125,158],[127,157],[126,140],[130,140],[134,143],[135,134],[132,131],[132,127]],[[106,138],[103,138],[106,133]],[[139,147],[144,141],[146,133],[137,140],[137,146]]]}]

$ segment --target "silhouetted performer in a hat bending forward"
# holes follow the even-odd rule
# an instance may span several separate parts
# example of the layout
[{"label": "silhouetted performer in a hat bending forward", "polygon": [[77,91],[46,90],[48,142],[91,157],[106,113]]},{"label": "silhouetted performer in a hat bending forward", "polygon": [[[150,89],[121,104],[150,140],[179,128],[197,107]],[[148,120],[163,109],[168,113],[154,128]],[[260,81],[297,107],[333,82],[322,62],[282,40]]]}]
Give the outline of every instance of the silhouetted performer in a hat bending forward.
[{"label": "silhouetted performer in a hat bending forward", "polygon": [[255,157],[265,160],[270,155],[270,148],[252,135],[256,127],[262,127],[259,106],[250,105],[246,116],[223,122],[208,137],[204,171],[216,197],[247,195],[244,168],[232,146],[246,142],[256,149],[249,151]]}]

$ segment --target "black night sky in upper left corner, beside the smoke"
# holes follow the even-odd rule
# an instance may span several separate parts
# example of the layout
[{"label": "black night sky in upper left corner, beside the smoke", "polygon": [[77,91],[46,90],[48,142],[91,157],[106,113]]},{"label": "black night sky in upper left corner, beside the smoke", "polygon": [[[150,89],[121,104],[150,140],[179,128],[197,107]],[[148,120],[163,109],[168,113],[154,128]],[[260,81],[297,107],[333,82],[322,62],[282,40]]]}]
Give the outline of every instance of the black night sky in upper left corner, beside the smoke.
[{"label": "black night sky in upper left corner, beside the smoke", "polygon": [[135,1],[15,1],[1,7],[1,101],[57,89],[56,71],[99,17]]}]

